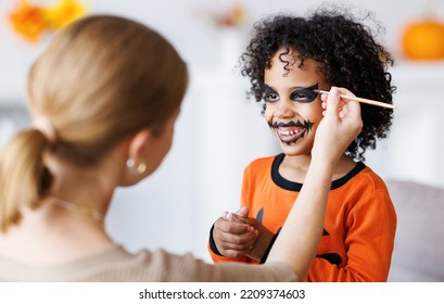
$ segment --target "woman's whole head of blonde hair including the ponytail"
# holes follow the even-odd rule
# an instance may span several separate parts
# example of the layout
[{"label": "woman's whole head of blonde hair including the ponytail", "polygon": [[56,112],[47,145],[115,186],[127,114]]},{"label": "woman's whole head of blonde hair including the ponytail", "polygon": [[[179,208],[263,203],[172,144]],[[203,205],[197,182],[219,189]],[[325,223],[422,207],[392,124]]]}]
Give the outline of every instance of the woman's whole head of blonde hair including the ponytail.
[{"label": "woman's whole head of blonde hair including the ponytail", "polygon": [[162,131],[180,106],[187,66],[155,30],[124,17],[93,15],[59,33],[29,71],[28,107],[51,124],[17,132],[0,159],[0,230],[36,207],[52,182],[43,153],[94,164],[122,139]]}]

